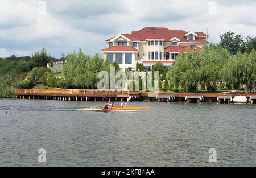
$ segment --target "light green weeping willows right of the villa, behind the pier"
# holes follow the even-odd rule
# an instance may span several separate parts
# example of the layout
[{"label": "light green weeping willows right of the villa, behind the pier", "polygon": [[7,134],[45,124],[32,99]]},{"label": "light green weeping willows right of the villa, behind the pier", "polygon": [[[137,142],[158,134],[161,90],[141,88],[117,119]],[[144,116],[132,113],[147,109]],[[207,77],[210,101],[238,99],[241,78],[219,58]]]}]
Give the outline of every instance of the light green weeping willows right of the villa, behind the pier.
[{"label": "light green weeping willows right of the villa, behind the pier", "polygon": [[255,90],[256,52],[237,52],[214,44],[200,52],[180,53],[168,71],[170,90]]}]

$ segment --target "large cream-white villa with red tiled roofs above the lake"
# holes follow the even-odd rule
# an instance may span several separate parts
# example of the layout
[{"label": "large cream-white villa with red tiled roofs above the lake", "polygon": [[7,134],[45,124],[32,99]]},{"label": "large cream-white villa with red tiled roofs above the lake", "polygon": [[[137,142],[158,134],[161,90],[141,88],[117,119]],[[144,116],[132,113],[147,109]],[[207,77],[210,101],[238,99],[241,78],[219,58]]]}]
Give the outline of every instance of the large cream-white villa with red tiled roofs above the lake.
[{"label": "large cream-white villa with red tiled roofs above the lake", "polygon": [[104,59],[117,61],[120,68],[135,69],[137,62],[151,71],[160,61],[165,66],[174,63],[179,52],[199,50],[207,44],[208,35],[203,32],[187,32],[160,27],[145,27],[131,34],[120,34],[106,40],[108,48],[102,49]]}]

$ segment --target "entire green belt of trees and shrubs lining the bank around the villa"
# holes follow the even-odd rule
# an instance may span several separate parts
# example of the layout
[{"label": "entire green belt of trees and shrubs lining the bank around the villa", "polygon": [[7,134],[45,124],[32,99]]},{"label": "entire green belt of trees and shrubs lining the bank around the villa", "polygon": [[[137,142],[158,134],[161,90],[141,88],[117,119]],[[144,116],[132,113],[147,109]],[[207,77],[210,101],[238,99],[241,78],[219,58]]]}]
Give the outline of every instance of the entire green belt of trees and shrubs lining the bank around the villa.
[{"label": "entire green belt of trees and shrubs lining the bank around the villa", "polygon": [[[159,71],[159,89],[170,91],[197,91],[245,89],[255,90],[256,37],[226,32],[220,43],[208,44],[200,51],[180,53],[171,67],[156,63],[152,73]],[[62,78],[54,77],[46,63],[65,61]],[[33,88],[37,84],[56,88],[96,89],[97,73],[110,72],[110,66],[119,71],[117,62],[110,64],[100,55],[86,55],[79,49],[61,59],[55,59],[46,48],[32,57],[10,56],[0,58],[0,97],[12,97],[14,88]],[[143,64],[128,71],[145,71]],[[146,71],[148,75],[148,72]],[[154,80],[152,76],[152,80]],[[118,79],[116,79],[118,80]],[[152,82],[154,85],[154,82]],[[141,86],[140,80],[140,86]]]}]

